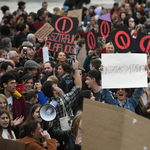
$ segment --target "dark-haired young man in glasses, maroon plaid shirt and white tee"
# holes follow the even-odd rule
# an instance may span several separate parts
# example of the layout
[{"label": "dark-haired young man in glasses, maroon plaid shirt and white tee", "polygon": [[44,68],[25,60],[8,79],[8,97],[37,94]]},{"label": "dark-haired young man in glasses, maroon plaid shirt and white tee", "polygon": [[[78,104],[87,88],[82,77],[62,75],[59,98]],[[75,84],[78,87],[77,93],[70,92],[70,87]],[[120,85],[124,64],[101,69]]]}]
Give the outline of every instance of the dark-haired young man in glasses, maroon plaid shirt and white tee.
[{"label": "dark-haired young man in glasses, maroon plaid shirt and white tee", "polygon": [[[1,77],[1,90],[0,93],[4,94],[7,98],[8,105],[10,108],[11,115],[13,119],[24,116],[24,120],[27,118],[27,109],[24,97],[19,93],[14,94],[16,91],[16,78],[11,73],[5,73]],[[14,132],[16,137],[19,135],[20,125],[16,126]]]}]

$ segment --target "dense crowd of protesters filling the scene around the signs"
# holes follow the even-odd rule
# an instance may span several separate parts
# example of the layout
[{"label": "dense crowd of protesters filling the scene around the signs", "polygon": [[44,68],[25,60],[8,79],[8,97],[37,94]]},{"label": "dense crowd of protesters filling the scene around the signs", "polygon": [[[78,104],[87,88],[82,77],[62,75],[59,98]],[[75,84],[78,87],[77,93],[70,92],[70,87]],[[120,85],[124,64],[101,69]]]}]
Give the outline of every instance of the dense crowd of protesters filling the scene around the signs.
[{"label": "dense crowd of protesters filling the scene around the signs", "polygon": [[[91,29],[98,34],[98,18],[110,14],[111,30],[126,24],[132,38],[139,32],[150,34],[150,1],[145,3],[114,3],[110,10],[99,4],[89,8],[90,1],[66,0],[63,8],[49,12],[50,2],[43,2],[37,12],[26,12],[23,1],[10,12],[2,6],[0,26],[0,138],[26,144],[26,150],[80,150],[82,145],[83,99],[108,103],[150,118],[150,93],[146,87],[135,89],[101,89],[102,53],[115,53],[110,40],[98,37],[98,48],[87,51],[82,68],[77,56],[85,44],[84,34]],[[140,4],[141,3],[141,4]],[[16,6],[17,7],[17,6]],[[82,25],[75,38],[75,57],[64,52],[49,51],[43,62],[45,40],[37,39],[34,23],[51,24],[52,16],[67,16],[69,10],[82,8]],[[149,78],[150,55],[147,55]],[[44,104],[58,103],[52,122],[39,114]],[[72,125],[62,130],[60,118],[64,107]]]}]

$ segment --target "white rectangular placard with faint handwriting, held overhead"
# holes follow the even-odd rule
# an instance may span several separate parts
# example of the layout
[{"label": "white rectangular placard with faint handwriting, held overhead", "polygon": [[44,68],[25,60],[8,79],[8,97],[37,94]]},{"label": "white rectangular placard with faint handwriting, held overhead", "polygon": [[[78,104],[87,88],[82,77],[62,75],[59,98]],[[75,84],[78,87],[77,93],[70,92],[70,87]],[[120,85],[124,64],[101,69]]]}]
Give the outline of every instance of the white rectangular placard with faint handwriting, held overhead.
[{"label": "white rectangular placard with faint handwriting, held overhead", "polygon": [[103,89],[147,87],[146,54],[102,54],[102,64]]}]

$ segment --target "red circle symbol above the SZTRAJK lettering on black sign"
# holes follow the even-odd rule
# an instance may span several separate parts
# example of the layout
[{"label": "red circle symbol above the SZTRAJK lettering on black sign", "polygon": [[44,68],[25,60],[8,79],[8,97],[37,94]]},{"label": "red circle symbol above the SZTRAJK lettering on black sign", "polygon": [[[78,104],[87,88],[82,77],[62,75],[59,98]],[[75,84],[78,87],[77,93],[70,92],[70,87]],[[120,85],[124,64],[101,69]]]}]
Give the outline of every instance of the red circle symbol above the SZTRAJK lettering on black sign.
[{"label": "red circle symbol above the SZTRAJK lettering on black sign", "polygon": [[[59,21],[61,21],[61,20],[63,20],[63,24],[62,24],[62,29],[60,30],[60,29],[58,29],[58,23],[59,23]],[[67,22],[67,20],[69,20],[69,22],[70,22],[70,28],[67,30],[67,31],[65,31],[65,27],[66,27],[66,22]],[[59,19],[57,19],[57,21],[56,21],[56,23],[55,23],[55,29],[59,32],[59,33],[68,33],[68,32],[70,32],[71,30],[72,30],[72,28],[73,28],[73,21],[72,21],[72,19],[71,18],[69,18],[69,17],[60,17]]]}]

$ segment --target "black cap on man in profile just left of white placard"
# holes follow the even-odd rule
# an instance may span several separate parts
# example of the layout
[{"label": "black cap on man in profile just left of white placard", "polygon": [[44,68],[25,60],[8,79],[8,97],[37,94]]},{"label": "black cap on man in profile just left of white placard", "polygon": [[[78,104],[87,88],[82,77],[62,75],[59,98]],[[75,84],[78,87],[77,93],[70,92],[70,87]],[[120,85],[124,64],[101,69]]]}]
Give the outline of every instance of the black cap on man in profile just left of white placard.
[{"label": "black cap on man in profile just left of white placard", "polygon": [[97,84],[100,86],[100,80],[101,80],[101,73],[97,70],[91,70],[88,72],[88,76],[91,78],[95,78]]}]

